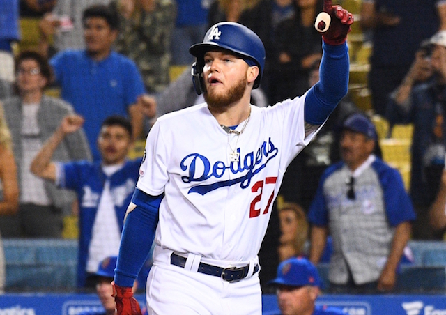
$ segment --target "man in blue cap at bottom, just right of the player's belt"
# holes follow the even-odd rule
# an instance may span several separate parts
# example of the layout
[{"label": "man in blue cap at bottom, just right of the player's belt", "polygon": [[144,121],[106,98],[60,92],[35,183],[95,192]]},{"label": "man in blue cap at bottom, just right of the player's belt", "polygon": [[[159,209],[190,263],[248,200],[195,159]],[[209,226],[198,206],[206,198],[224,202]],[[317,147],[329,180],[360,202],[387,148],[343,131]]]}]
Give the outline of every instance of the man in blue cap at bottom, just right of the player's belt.
[{"label": "man in blue cap at bottom, just right of the player's belt", "polygon": [[321,278],[308,259],[293,257],[282,261],[277,268],[277,277],[270,284],[277,286],[280,315],[346,314],[334,307],[315,305]]}]

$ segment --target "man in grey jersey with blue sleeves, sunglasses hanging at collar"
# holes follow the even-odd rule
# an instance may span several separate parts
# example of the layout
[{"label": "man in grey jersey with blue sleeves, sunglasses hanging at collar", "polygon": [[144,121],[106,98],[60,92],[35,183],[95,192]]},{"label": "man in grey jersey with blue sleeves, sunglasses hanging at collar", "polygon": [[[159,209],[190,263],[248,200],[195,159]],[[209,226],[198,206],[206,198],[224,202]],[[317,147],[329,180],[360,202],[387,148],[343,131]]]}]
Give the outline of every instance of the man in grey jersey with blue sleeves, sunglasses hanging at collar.
[{"label": "man in grey jersey with blue sleeves, sunglasses hanging at collar", "polygon": [[378,137],[369,118],[352,114],[341,131],[341,162],[325,170],[309,209],[310,260],[318,263],[330,231],[330,289],[392,291],[415,220],[412,202],[399,171],[373,154]]}]

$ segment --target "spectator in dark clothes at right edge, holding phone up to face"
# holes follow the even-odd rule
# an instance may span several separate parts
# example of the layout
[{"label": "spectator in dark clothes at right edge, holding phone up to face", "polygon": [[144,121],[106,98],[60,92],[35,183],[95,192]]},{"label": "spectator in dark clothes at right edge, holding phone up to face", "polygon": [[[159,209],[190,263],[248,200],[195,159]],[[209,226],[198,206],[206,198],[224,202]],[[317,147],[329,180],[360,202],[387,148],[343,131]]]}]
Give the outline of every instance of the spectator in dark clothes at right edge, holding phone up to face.
[{"label": "spectator in dark clothes at right edge, holding phone up to face", "polygon": [[[410,148],[410,198],[417,210],[414,238],[435,238],[429,226],[429,207],[436,198],[446,151],[446,31],[438,31],[429,39],[431,54],[420,52],[415,59],[413,77],[423,78],[429,72],[423,68],[431,59],[433,75],[424,82],[409,87],[401,85],[390,98],[396,109],[392,123],[412,123],[413,139]],[[417,74],[418,73],[418,74]],[[408,84],[410,86],[410,84]],[[397,115],[395,115],[395,113]]]}]

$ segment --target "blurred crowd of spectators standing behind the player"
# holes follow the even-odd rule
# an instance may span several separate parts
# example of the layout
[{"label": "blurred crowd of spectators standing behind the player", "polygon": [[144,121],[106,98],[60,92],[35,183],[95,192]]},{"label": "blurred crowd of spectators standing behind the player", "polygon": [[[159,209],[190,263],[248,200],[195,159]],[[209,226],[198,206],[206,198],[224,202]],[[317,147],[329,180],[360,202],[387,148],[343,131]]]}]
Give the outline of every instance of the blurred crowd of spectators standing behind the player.
[{"label": "blurred crowd of spectators standing behind the player", "polygon": [[[351,116],[361,109],[347,95],[284,177],[280,194],[288,203],[277,206],[260,252],[262,282],[291,257],[328,261],[323,254],[331,254],[330,231],[333,285],[391,290],[410,224],[430,218],[437,232],[429,238],[445,231],[445,1],[361,2],[360,25],[373,45],[371,113],[391,126],[415,125],[410,190],[406,194],[401,175],[380,160],[376,130],[368,133],[373,124],[365,113]],[[145,139],[156,117],[203,100],[190,77],[190,45],[201,42],[216,22],[251,28],[267,54],[252,102],[274,104],[301,95],[318,80],[322,42],[313,24],[321,8],[320,0],[2,1],[3,238],[61,238],[63,217],[78,215],[77,284],[94,284],[88,276],[98,272],[102,259],[118,254],[138,177],[140,158],[127,158],[134,141]],[[25,18],[38,20],[35,49],[20,49]],[[174,81],[172,66],[183,67]],[[59,94],[49,96],[48,87]],[[358,153],[357,164],[348,162],[358,148],[365,153]],[[112,215],[109,208],[115,209]],[[347,235],[350,243],[343,240]],[[376,240],[380,250],[368,269],[370,253],[362,252],[362,259],[345,254],[345,247],[364,250],[367,240]],[[0,244],[0,291],[1,249]]]}]

